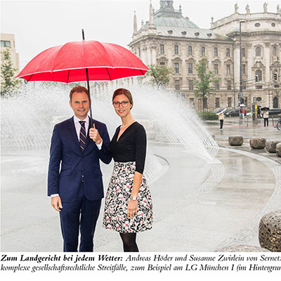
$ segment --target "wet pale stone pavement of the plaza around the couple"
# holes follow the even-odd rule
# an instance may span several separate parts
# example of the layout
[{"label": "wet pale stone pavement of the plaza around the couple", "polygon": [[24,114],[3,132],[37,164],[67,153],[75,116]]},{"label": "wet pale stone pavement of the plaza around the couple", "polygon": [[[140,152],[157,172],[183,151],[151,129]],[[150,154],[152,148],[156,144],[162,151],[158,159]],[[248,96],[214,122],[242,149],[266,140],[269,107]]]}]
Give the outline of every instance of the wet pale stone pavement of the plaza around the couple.
[{"label": "wet pale stone pavement of the plaza around the couple", "polygon": [[[163,175],[150,185],[154,208],[152,230],[138,234],[141,251],[214,251],[231,244],[259,246],[259,220],[281,209],[280,158],[251,150],[253,136],[281,139],[281,131],[250,120],[204,122],[219,145],[216,159],[188,153],[181,145],[150,143],[163,165]],[[228,136],[243,136],[230,147]],[[13,151],[1,155],[1,251],[62,251],[58,213],[46,196],[48,150]],[[112,163],[103,165],[105,189]],[[96,228],[96,251],[122,251],[118,233]]]}]

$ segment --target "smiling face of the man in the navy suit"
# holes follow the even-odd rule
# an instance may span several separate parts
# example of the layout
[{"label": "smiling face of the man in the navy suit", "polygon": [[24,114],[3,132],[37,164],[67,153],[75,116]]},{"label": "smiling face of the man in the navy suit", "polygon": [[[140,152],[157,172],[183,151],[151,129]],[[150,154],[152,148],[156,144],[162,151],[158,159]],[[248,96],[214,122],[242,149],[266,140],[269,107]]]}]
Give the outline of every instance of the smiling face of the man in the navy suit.
[{"label": "smiling face of the man in the navy suit", "polygon": [[89,98],[85,92],[74,92],[72,100],[70,100],[70,107],[74,112],[74,115],[83,120],[87,117],[89,112]]}]

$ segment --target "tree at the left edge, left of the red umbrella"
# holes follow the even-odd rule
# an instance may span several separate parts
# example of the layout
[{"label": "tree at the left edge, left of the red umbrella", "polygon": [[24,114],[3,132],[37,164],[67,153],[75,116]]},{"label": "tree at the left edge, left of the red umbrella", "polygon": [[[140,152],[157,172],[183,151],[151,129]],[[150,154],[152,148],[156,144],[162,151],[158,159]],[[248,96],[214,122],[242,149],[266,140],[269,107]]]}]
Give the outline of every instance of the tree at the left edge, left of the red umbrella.
[{"label": "tree at the left edge, left of the red umbrella", "polygon": [[11,60],[10,49],[6,48],[1,54],[1,97],[11,95],[20,86],[20,81],[15,78],[16,71]]}]

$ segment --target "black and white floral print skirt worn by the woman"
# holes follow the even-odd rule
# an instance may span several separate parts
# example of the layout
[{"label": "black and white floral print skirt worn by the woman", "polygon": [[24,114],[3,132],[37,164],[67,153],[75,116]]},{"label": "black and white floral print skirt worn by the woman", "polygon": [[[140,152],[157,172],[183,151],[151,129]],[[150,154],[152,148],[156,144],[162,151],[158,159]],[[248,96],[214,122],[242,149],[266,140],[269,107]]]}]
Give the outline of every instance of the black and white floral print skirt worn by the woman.
[{"label": "black and white floral print skirt worn by the woman", "polygon": [[105,197],[103,228],[119,233],[138,233],[152,228],[152,200],[144,176],[138,191],[137,214],[127,217],[135,169],[135,162],[115,162]]}]

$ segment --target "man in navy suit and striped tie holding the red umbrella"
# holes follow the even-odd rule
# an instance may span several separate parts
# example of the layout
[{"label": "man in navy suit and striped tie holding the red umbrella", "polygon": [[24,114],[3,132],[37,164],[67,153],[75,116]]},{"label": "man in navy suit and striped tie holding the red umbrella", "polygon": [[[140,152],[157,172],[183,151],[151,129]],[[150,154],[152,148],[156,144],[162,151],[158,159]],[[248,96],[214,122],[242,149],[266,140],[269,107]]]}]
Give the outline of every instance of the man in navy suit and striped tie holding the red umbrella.
[{"label": "man in navy suit and striped tie holding the red umbrella", "polygon": [[93,235],[103,198],[100,161],[109,164],[110,138],[105,124],[90,118],[88,90],[76,86],[70,91],[74,116],[53,129],[48,166],[48,196],[60,212],[63,250],[93,251]]}]

